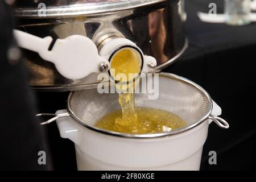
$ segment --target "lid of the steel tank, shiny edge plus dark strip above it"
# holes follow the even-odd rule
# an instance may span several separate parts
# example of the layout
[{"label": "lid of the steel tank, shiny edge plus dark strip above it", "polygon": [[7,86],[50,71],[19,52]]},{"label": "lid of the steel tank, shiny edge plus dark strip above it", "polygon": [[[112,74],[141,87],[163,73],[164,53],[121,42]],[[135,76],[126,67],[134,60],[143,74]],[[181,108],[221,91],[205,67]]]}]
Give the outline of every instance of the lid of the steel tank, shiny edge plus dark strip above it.
[{"label": "lid of the steel tank, shiny edge plus dark strip above it", "polygon": [[16,0],[19,18],[54,18],[134,9],[167,0]]}]

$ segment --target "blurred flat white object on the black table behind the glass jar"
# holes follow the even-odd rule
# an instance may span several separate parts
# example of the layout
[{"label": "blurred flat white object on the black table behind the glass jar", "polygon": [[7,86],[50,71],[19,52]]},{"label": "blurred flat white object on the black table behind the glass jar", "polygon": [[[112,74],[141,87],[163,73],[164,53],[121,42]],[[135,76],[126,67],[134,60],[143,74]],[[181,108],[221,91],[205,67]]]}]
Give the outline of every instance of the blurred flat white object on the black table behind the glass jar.
[{"label": "blurred flat white object on the black table behind the glass jar", "polygon": [[[209,15],[208,13],[198,12],[197,16],[202,22],[207,22],[207,23],[225,23],[226,21],[225,14],[216,14],[212,16],[212,15]],[[251,22],[256,22],[256,13],[251,13],[249,15],[249,19]]]}]

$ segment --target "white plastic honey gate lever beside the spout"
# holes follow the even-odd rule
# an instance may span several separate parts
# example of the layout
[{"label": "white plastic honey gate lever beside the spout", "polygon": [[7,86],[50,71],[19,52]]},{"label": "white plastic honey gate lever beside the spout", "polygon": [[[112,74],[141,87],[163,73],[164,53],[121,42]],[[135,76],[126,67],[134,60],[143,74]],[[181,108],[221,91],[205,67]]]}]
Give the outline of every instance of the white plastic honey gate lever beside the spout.
[{"label": "white plastic honey gate lever beside the spout", "polygon": [[86,36],[57,39],[51,51],[51,36],[39,38],[19,30],[14,30],[14,36],[19,47],[37,52],[42,59],[55,64],[57,71],[66,78],[80,79],[109,69],[109,61],[98,55],[96,45]]}]

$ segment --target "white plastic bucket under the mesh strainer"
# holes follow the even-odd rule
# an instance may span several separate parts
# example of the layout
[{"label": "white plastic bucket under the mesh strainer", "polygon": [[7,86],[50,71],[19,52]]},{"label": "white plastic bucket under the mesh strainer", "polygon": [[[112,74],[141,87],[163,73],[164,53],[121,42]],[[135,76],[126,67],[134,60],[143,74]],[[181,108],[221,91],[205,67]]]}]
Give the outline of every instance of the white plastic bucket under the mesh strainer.
[{"label": "white plastic bucket under the mesh strainer", "polygon": [[[211,114],[221,114],[215,102]],[[211,122],[167,137],[123,138],[90,130],[71,117],[56,121],[60,136],[75,143],[79,170],[199,170]]]}]

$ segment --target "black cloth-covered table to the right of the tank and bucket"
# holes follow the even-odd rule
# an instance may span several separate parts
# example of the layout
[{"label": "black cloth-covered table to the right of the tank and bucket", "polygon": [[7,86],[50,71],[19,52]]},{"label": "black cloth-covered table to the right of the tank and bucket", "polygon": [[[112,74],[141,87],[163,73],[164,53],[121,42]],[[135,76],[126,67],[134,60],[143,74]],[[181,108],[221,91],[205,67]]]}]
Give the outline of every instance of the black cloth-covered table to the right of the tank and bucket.
[{"label": "black cloth-covered table to the right of the tank and bucket", "polygon": [[[229,122],[228,130],[214,123],[209,126],[201,169],[251,169],[256,162],[256,23],[241,27],[203,23],[196,13],[207,13],[212,2],[223,13],[223,1],[186,1],[189,48],[164,71],[201,85]],[[217,165],[208,163],[211,150],[217,152]]]}]

